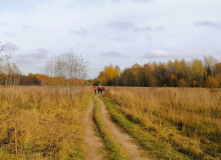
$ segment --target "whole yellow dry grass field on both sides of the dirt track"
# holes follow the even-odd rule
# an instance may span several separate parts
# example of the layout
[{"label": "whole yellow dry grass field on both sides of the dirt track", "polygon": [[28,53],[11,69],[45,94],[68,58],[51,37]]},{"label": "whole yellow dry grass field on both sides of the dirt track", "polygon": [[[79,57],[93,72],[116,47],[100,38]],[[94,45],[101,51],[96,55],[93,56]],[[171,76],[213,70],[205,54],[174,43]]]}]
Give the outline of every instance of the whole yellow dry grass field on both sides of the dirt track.
[{"label": "whole yellow dry grass field on both sides of the dirt track", "polygon": [[[150,159],[220,159],[221,90],[107,87],[100,95],[94,97],[90,87],[1,86],[0,159],[86,159],[90,97],[105,102],[112,120]],[[95,128],[101,130],[100,111],[94,112]]]}]

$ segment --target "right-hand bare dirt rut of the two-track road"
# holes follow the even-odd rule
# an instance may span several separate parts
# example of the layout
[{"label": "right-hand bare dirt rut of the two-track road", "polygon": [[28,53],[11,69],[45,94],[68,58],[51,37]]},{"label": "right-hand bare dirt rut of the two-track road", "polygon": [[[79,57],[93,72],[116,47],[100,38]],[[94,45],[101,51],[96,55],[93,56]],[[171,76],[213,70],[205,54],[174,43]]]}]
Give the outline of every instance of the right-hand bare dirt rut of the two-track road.
[{"label": "right-hand bare dirt rut of the two-track road", "polygon": [[142,150],[140,150],[140,147],[132,143],[133,139],[128,134],[123,133],[122,129],[112,122],[105,104],[100,99],[98,99],[98,101],[101,104],[101,117],[104,120],[105,125],[108,126],[110,132],[112,132],[117,141],[123,146],[127,155],[132,160],[149,160],[148,158],[141,157]]}]

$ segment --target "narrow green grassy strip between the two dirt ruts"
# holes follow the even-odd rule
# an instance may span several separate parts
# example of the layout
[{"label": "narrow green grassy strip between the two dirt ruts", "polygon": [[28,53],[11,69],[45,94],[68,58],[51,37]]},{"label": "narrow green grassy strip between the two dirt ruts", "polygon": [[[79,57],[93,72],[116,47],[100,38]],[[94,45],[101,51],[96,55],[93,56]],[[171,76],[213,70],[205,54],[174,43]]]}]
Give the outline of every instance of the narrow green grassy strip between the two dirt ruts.
[{"label": "narrow green grassy strip between the two dirt ruts", "polygon": [[94,120],[101,133],[101,137],[105,143],[105,148],[108,151],[108,159],[111,160],[129,160],[121,145],[115,140],[114,136],[110,133],[108,128],[105,126],[104,121],[101,117],[101,108],[96,99],[95,102],[95,114]]}]

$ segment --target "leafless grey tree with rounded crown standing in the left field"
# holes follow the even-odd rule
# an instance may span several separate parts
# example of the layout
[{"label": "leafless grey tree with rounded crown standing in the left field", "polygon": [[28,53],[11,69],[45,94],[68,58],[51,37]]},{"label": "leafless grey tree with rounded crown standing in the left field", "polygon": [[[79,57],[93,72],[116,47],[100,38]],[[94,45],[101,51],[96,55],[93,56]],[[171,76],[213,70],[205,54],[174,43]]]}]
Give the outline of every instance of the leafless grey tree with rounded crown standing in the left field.
[{"label": "leafless grey tree with rounded crown standing in the left field", "polygon": [[69,50],[49,59],[45,64],[45,73],[53,77],[55,85],[66,86],[62,87],[66,94],[75,99],[79,89],[75,86],[84,85],[78,83],[78,80],[87,77],[87,63],[74,50]]}]

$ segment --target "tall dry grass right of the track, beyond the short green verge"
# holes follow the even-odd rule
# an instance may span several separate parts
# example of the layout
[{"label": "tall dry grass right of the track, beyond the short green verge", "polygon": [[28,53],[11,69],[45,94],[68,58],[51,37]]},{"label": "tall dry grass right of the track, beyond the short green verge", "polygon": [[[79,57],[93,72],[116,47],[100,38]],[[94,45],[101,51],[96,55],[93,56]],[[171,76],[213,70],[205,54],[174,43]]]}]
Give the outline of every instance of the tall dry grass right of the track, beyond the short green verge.
[{"label": "tall dry grass right of the track, beyond the short green verge", "polygon": [[125,116],[191,159],[221,157],[221,91],[112,87]]}]

